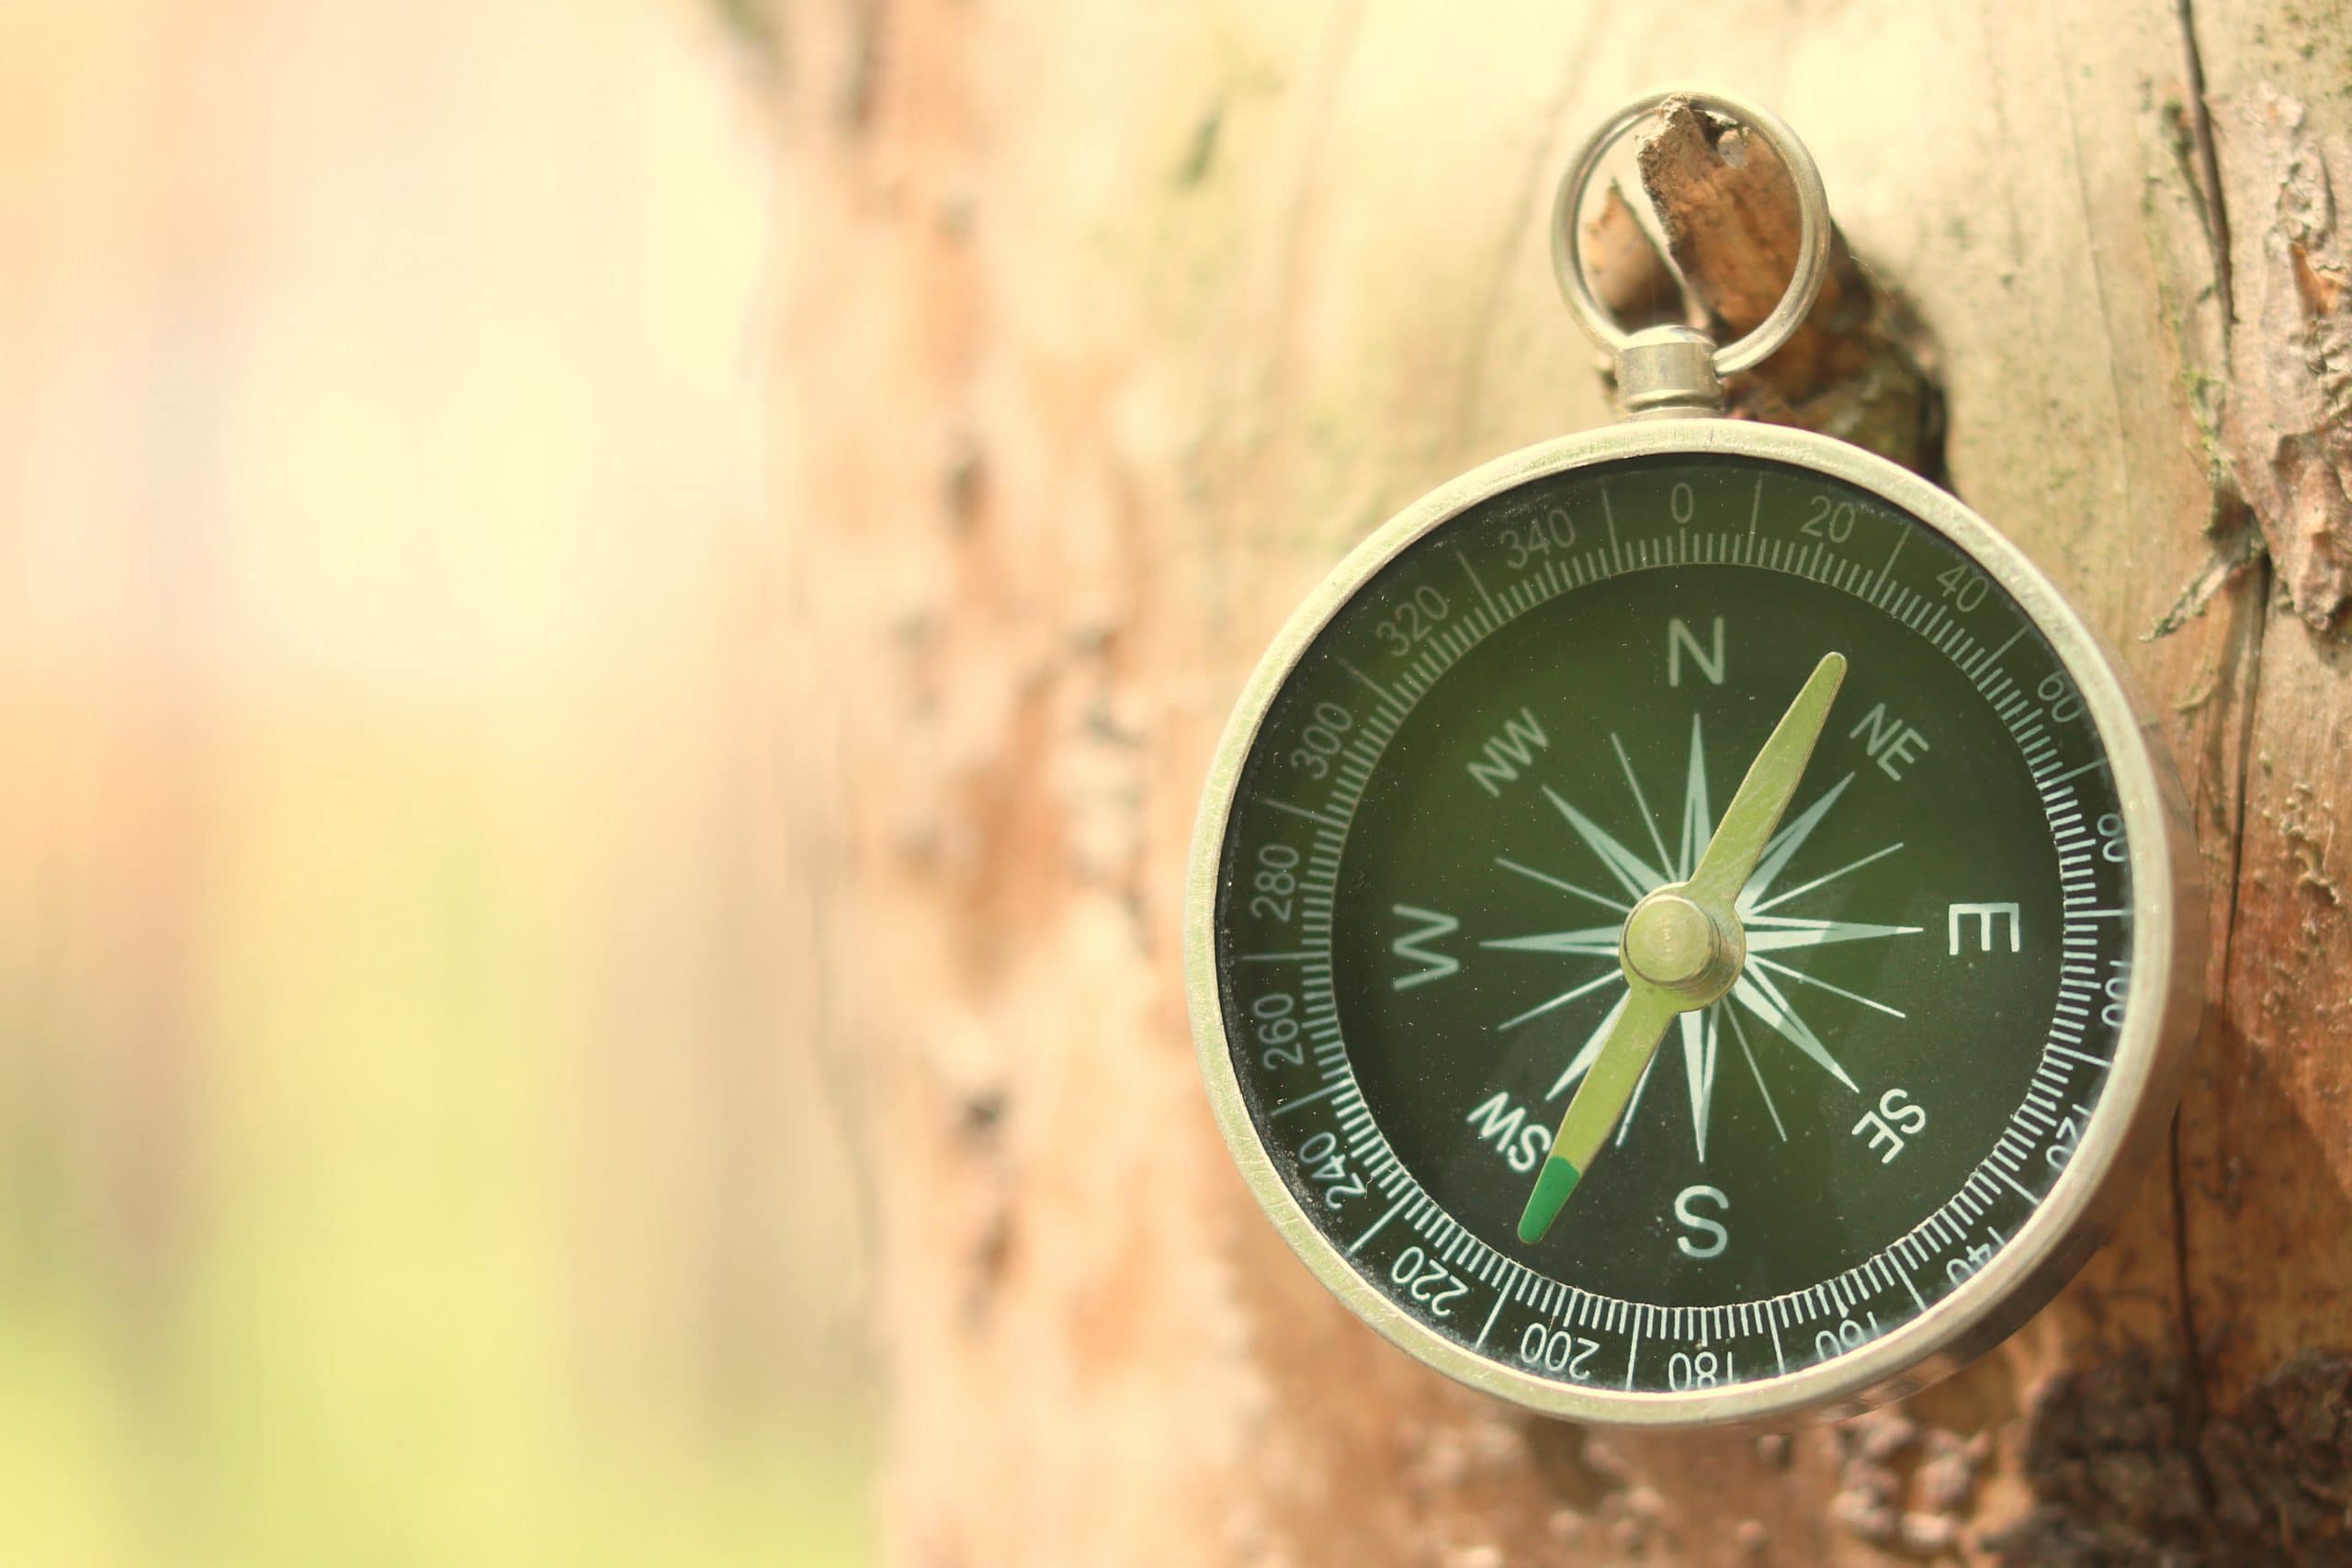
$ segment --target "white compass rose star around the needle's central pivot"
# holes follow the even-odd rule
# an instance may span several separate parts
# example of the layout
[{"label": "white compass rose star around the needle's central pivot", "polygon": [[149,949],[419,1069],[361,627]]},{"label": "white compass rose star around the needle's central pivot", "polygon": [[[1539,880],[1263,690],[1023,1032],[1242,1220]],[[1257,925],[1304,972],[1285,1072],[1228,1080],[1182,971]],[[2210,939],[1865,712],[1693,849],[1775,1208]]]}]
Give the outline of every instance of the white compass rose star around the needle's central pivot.
[{"label": "white compass rose star around the needle's central pivot", "polygon": [[[1609,994],[1611,1006],[1602,1020],[1585,1037],[1576,1056],[1559,1072],[1559,1079],[1550,1086],[1550,1100],[1557,1100],[1569,1091],[1599,1058],[1602,1044],[1609,1039],[1611,1027],[1625,1011],[1630,990],[1625,983],[1625,971],[1618,964],[1618,938],[1625,929],[1625,917],[1632,912],[1651,889],[1665,884],[1689,882],[1698,865],[1700,851],[1708,846],[1708,837],[1715,832],[1715,816],[1708,806],[1708,745],[1700,729],[1698,715],[1691,715],[1691,752],[1682,776],[1682,811],[1675,827],[1675,846],[1668,849],[1665,832],[1658,825],[1658,816],[1651,811],[1649,797],[1642,790],[1642,780],[1635,776],[1632,759],[1625,752],[1625,743],[1611,733],[1609,748],[1616,752],[1618,769],[1625,776],[1625,790],[1632,802],[1632,816],[1639,823],[1639,835],[1649,839],[1646,851],[1630,849],[1625,839],[1611,835],[1602,823],[1581,811],[1557,790],[1545,785],[1543,795],[1550,799],[1552,809],[1559,811],[1562,823],[1576,844],[1581,844],[1592,860],[1599,863],[1599,877],[1581,872],[1588,882],[1599,882],[1602,886],[1588,886],[1588,882],[1571,882],[1569,877],[1555,875],[1541,865],[1517,860],[1510,856],[1498,856],[1496,865],[1519,877],[1541,882],[1573,900],[1602,907],[1611,914],[1609,924],[1578,926],[1566,931],[1538,931],[1531,936],[1508,936],[1482,943],[1484,947],[1496,947],[1505,952],[1541,952],[1571,959],[1592,959],[1602,964],[1599,973],[1583,976],[1576,983],[1562,987],[1557,994],[1538,1001],[1536,1006],[1505,1018],[1498,1023],[1498,1032],[1519,1030],[1538,1018],[1555,1013],[1583,997],[1595,992]],[[1828,1072],[1832,1079],[1846,1088],[1856,1088],[1853,1079],[1837,1063],[1830,1048],[1820,1041],[1820,1034],[1806,1023],[1804,1011],[1792,999],[1792,992],[1802,994],[1802,987],[1823,990],[1846,1001],[1886,1013],[1889,1018],[1903,1018],[1903,1011],[1851,992],[1842,985],[1832,985],[1818,976],[1797,969],[1788,959],[1799,957],[1806,950],[1828,947],[1830,943],[1863,943],[1882,940],[1891,936],[1912,936],[1919,926],[1875,926],[1842,919],[1813,919],[1802,914],[1802,900],[1811,893],[1835,886],[1839,879],[1858,872],[1872,860],[1882,860],[1898,849],[1900,842],[1886,844],[1858,860],[1849,860],[1830,872],[1799,882],[1797,886],[1783,889],[1790,865],[1804,851],[1806,842],[1820,827],[1820,823],[1837,809],[1839,797],[1853,783],[1853,773],[1846,773],[1828,790],[1823,790],[1804,811],[1780,825],[1780,830],[1766,842],[1762,858],[1757,860],[1755,875],[1740,889],[1736,900],[1736,912],[1740,929],[1745,931],[1748,959],[1740,966],[1738,978],[1731,990],[1705,1009],[1682,1013],[1675,1020],[1682,1044],[1682,1074],[1691,1095],[1691,1131],[1698,1143],[1698,1159],[1708,1157],[1708,1121],[1715,1105],[1715,1065],[1722,1034],[1729,1027],[1731,1041],[1738,1046],[1740,1058],[1748,1065],[1750,1077],[1757,1084],[1757,1093],[1764,1098],[1764,1110],[1771,1114],[1773,1131],[1788,1140],[1788,1126],[1780,1121],[1780,1110],[1773,1105],[1771,1086],[1764,1081],[1764,1067],[1757,1060],[1755,1039],[1750,1037],[1750,1023],[1759,1025],[1757,1039],[1778,1037],[1788,1046],[1795,1046],[1806,1060],[1818,1070]],[[1599,802],[1588,802],[1599,806]],[[1790,910],[1788,905],[1797,905]],[[1785,954],[1785,957],[1783,957]],[[1745,1018],[1743,1018],[1745,1016]],[[1656,1067],[1656,1058],[1651,1058]],[[1642,1091],[1649,1086],[1649,1070],[1642,1072],[1642,1081],[1635,1086],[1632,1103],[1625,1107],[1625,1117],[1618,1121],[1616,1143],[1625,1143],[1632,1128],[1632,1112],[1642,1103]]]}]

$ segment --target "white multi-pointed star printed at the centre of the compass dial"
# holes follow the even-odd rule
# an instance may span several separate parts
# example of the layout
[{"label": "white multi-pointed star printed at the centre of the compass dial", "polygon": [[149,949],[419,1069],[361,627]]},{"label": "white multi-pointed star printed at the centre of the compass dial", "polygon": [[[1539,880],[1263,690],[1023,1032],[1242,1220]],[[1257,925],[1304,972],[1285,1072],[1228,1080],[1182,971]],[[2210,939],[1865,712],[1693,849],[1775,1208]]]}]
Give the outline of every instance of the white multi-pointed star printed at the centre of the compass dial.
[{"label": "white multi-pointed star printed at the centre of the compass dial", "polygon": [[[1503,936],[1482,943],[1482,947],[1489,950],[1536,954],[1548,961],[1559,961],[1564,969],[1566,983],[1559,992],[1522,1013],[1503,1018],[1496,1025],[1503,1034],[1543,1027],[1545,1023],[1557,1025],[1562,1016],[1566,1016],[1566,1011],[1585,997],[1609,999],[1606,1013],[1592,1025],[1590,1034],[1585,1034],[1583,1044],[1569,1056],[1559,1077],[1552,1081],[1545,1098],[1555,1103],[1592,1070],[1632,999],[1630,983],[1621,964],[1621,940],[1625,936],[1628,917],[1635,912],[1635,905],[1653,896],[1658,889],[1686,884],[1698,870],[1708,842],[1717,830],[1717,818],[1710,811],[1708,795],[1708,745],[1698,715],[1691,715],[1691,748],[1682,769],[1682,806],[1675,818],[1672,846],[1668,844],[1668,835],[1661,830],[1661,818],[1651,809],[1649,792],[1642,790],[1642,780],[1635,773],[1625,743],[1611,733],[1609,748],[1625,778],[1623,797],[1588,799],[1578,806],[1578,802],[1571,802],[1555,788],[1545,785],[1543,795],[1559,813],[1559,837],[1564,842],[1534,846],[1526,856],[1496,858],[1501,870],[1557,891],[1564,910],[1581,907],[1588,914],[1604,912],[1606,919],[1602,924],[1531,931],[1524,936]],[[1837,778],[1811,802],[1797,809],[1785,823],[1780,823],[1778,832],[1764,842],[1755,872],[1733,900],[1733,910],[1745,936],[1745,959],[1740,961],[1738,976],[1717,1001],[1677,1013],[1672,1020],[1675,1039],[1679,1044],[1682,1079],[1691,1098],[1691,1133],[1696,1138],[1700,1161],[1708,1157],[1708,1124],[1715,1110],[1717,1060],[1724,1034],[1731,1037],[1733,1048],[1748,1067],[1748,1077],[1755,1081],[1757,1093],[1764,1100],[1773,1131],[1785,1143],[1790,1138],[1790,1128],[1783,1121],[1780,1107],[1771,1093],[1771,1077],[1785,1072],[1783,1065],[1773,1063],[1776,1053],[1802,1058],[1809,1070],[1825,1072],[1849,1091],[1860,1093],[1846,1067],[1823,1044],[1820,1032],[1806,1020],[1806,1006],[1820,1006],[1818,997],[1837,997],[1839,1001],[1830,1006],[1853,1004],[1889,1018],[1905,1016],[1900,1009],[1877,997],[1865,997],[1835,985],[1809,973],[1804,966],[1806,954],[1818,952],[1820,947],[1837,943],[1877,943],[1917,936],[1922,931],[1919,926],[1860,924],[1806,914],[1806,903],[1811,898],[1830,893],[1832,889],[1842,896],[1849,891],[1839,889],[1846,877],[1903,849],[1900,842],[1893,842],[1856,860],[1846,860],[1844,865],[1804,877],[1809,860],[1806,844],[1811,844],[1820,825],[1830,820],[1851,785],[1853,773]],[[1590,806],[1590,811],[1585,806]],[[1621,827],[1630,820],[1632,832],[1611,832],[1604,820]],[[1628,839],[1642,844],[1642,849],[1635,849]],[[1799,999],[1804,1001],[1799,1004]],[[1837,1030],[1832,1030],[1832,1034],[1837,1034]],[[1646,1091],[1651,1072],[1656,1072],[1658,1058],[1663,1056],[1668,1053],[1658,1051],[1658,1056],[1653,1056],[1642,1070],[1632,1100],[1625,1105],[1625,1114],[1616,1126],[1618,1145],[1623,1145],[1632,1133],[1642,1093]],[[1773,1065],[1769,1067],[1769,1063]]]}]

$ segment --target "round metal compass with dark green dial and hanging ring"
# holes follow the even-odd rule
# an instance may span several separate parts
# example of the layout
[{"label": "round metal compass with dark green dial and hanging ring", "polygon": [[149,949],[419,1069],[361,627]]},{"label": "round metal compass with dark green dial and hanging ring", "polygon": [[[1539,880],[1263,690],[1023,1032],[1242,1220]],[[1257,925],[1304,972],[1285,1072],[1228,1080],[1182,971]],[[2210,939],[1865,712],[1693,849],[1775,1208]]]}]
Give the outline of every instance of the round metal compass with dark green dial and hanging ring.
[{"label": "round metal compass with dark green dial and hanging ring", "polygon": [[[1223,1133],[1310,1269],[1442,1373],[1592,1422],[1851,1413],[1983,1352],[2161,1143],[2194,842],[2098,639],[1987,522],[1729,421],[1625,336],[1637,414],[1468,473],[1298,609],[1190,875]],[[1602,148],[1562,186],[1573,205]]]}]

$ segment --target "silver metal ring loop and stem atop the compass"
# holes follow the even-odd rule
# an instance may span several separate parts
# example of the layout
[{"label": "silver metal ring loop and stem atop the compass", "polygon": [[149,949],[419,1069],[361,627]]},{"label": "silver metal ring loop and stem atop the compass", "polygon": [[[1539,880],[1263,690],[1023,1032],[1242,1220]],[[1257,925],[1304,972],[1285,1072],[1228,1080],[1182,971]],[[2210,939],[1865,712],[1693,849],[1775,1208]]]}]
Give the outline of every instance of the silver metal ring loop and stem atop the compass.
[{"label": "silver metal ring loop and stem atop the compass", "polygon": [[[1788,169],[1790,183],[1797,188],[1797,270],[1788,280],[1788,292],[1755,324],[1755,331],[1724,348],[1715,348],[1705,334],[1689,327],[1625,331],[1602,308],[1599,296],[1592,294],[1592,282],[1585,277],[1578,214],[1583,212],[1585,190],[1592,186],[1602,155],[1625,132],[1677,99],[1757,132],[1780,158],[1780,167]],[[1780,115],[1712,87],[1658,87],[1618,108],[1576,150],[1566,176],[1559,181],[1559,193],[1552,197],[1552,270],[1559,275],[1559,292],[1569,301],[1576,324],[1616,357],[1618,388],[1625,395],[1630,414],[1689,411],[1693,404],[1719,407],[1722,376],[1755,367],[1788,343],[1804,322],[1820,296],[1828,261],[1830,197],[1823,190],[1820,167],[1813,162],[1813,155]]]}]

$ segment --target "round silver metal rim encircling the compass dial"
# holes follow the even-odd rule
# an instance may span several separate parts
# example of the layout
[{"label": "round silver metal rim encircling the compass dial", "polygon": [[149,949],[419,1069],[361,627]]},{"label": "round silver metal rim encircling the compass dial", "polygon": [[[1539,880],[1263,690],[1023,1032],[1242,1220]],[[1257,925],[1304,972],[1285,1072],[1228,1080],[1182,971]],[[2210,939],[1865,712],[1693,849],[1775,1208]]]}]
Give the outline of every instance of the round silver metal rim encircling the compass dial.
[{"label": "round silver metal rim encircling the compass dial", "polygon": [[[1376,1291],[1312,1225],[1275,1171],[1232,1067],[1216,978],[1216,884],[1235,788],[1258,726],[1301,656],[1355,592],[1432,529],[1519,484],[1675,454],[1776,461],[1872,491],[1947,538],[2018,602],[2072,675],[2107,750],[2129,844],[2133,969],[2098,1110],[2056,1185],[1985,1267],[1919,1316],[1832,1361],[1717,1389],[1630,1392],[1536,1378],[1446,1340]],[[1425,1366],[1543,1415],[1623,1427],[1853,1415],[1950,1375],[2020,1328],[2107,1239],[2161,1147],[2204,1006],[2201,959],[2204,882],[2187,797],[2105,639],[2023,550],[1947,491],[1846,442],[1729,418],[1618,423],[1526,447],[1439,484],[1364,538],[1308,592],[1244,684],[1209,766],[1185,875],[1195,1053],[1218,1131],[1282,1239],[1350,1312]]]}]

